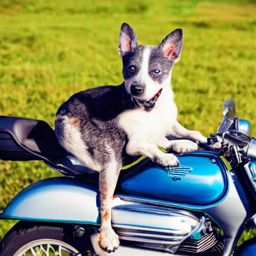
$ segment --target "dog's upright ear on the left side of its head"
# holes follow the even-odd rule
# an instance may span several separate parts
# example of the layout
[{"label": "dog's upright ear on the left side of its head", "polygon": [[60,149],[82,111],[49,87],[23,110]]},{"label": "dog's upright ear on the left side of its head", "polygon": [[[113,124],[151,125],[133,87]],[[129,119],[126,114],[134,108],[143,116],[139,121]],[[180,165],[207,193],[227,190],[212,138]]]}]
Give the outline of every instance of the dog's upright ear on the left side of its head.
[{"label": "dog's upright ear on the left side of its head", "polygon": [[119,35],[118,51],[122,57],[138,46],[137,36],[130,25],[122,23]]}]

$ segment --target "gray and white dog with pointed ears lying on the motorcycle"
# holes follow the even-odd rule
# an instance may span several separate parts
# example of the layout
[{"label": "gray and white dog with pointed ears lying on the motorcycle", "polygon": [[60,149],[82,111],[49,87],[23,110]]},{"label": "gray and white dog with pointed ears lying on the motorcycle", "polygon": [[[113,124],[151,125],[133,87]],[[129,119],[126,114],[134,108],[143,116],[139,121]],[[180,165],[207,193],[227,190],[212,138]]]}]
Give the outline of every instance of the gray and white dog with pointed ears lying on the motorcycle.
[{"label": "gray and white dog with pointed ears lying on the motorcycle", "polygon": [[176,166],[177,157],[158,146],[185,153],[207,141],[199,131],[188,130],[177,121],[170,77],[182,42],[182,29],[176,29],[158,46],[140,45],[134,30],[123,23],[118,51],[124,82],[75,93],[57,110],[59,143],[82,164],[99,171],[98,242],[107,252],[119,246],[111,227],[111,202],[128,155],[145,155],[158,164]]}]

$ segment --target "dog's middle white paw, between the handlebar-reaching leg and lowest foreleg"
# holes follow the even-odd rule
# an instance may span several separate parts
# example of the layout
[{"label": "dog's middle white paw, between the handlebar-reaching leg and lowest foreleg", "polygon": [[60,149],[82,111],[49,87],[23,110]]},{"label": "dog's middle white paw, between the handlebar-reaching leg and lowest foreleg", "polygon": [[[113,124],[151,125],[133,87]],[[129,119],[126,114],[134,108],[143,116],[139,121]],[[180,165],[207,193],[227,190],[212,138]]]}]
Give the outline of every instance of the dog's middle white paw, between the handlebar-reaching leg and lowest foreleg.
[{"label": "dog's middle white paw, between the handlebar-reaching leg and lowest foreleg", "polygon": [[167,138],[162,138],[159,141],[159,146],[167,151],[173,150],[177,153],[188,153],[198,149],[198,145],[188,139],[168,140]]}]

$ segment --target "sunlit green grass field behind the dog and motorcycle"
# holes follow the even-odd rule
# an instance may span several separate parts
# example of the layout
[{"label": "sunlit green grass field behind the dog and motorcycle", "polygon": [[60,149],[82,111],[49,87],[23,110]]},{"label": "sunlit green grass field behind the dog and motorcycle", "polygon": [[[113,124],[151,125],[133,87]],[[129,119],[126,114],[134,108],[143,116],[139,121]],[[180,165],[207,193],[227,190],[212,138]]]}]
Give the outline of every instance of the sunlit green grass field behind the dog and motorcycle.
[{"label": "sunlit green grass field behind the dog and motorcycle", "polygon": [[[255,0],[1,0],[0,114],[46,120],[72,93],[122,82],[122,22],[143,44],[184,30],[173,68],[178,119],[208,135],[233,97],[256,135]],[[41,162],[0,161],[0,210],[23,187],[59,175]],[[0,238],[13,224],[0,221]]]}]

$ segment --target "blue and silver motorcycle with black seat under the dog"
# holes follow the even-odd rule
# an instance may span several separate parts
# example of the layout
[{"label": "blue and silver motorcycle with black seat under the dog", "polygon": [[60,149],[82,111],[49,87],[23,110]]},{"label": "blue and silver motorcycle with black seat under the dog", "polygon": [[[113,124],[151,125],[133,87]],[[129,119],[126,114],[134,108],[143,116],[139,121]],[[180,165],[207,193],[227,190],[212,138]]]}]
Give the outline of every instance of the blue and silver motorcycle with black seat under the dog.
[{"label": "blue and silver motorcycle with black seat under the dog", "polygon": [[[216,152],[209,144],[219,143]],[[120,246],[110,255],[256,255],[254,238],[237,248],[256,223],[256,140],[250,123],[223,104],[216,134],[165,167],[146,157],[124,166],[112,201]],[[42,160],[63,174],[21,190],[0,219],[18,219],[0,242],[0,256],[109,255],[98,245],[98,172],[57,142],[42,120],[0,116],[0,159]]]}]

